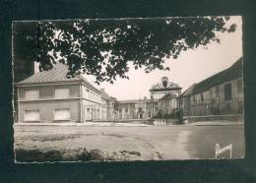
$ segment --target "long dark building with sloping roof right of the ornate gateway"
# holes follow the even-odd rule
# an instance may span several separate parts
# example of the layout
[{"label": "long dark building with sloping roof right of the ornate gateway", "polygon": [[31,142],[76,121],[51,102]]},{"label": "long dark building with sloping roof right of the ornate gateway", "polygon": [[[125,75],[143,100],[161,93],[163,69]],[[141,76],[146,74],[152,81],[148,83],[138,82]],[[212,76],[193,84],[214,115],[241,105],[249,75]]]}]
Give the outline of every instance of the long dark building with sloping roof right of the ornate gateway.
[{"label": "long dark building with sloping roof right of the ornate gateway", "polygon": [[185,116],[243,114],[242,58],[179,96]]}]

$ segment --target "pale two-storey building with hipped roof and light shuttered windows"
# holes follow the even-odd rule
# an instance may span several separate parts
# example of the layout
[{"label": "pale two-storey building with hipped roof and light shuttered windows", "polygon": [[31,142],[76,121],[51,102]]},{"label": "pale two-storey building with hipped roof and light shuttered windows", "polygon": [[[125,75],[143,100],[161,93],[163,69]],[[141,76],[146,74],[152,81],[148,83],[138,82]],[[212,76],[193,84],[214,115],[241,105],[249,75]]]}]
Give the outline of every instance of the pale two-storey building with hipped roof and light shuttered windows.
[{"label": "pale two-storey building with hipped roof and light shuttered windows", "polygon": [[18,122],[85,122],[111,118],[113,99],[83,76],[66,78],[57,64],[16,84]]}]

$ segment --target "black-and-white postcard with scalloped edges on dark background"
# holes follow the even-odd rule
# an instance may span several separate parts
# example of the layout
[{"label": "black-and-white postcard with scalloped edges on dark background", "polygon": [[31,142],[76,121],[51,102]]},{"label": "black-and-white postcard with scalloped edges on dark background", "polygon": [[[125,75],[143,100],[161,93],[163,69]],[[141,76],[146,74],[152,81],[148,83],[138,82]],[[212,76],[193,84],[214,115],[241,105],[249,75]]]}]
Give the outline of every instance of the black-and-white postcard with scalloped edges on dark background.
[{"label": "black-and-white postcard with scalloped edges on dark background", "polygon": [[241,26],[13,22],[16,162],[243,157]]}]

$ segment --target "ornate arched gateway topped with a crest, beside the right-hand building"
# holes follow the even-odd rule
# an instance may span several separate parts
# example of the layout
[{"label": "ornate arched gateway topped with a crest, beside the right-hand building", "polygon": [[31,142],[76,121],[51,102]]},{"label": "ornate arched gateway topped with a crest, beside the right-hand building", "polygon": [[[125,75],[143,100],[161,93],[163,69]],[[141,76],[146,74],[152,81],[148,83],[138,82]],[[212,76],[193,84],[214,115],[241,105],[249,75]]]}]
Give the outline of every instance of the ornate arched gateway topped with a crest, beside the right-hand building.
[{"label": "ornate arched gateway topped with a crest, beside the right-hand building", "polygon": [[177,97],[181,93],[181,89],[177,84],[168,81],[167,77],[162,77],[161,82],[154,85],[151,92],[151,115],[164,115],[178,108]]}]

